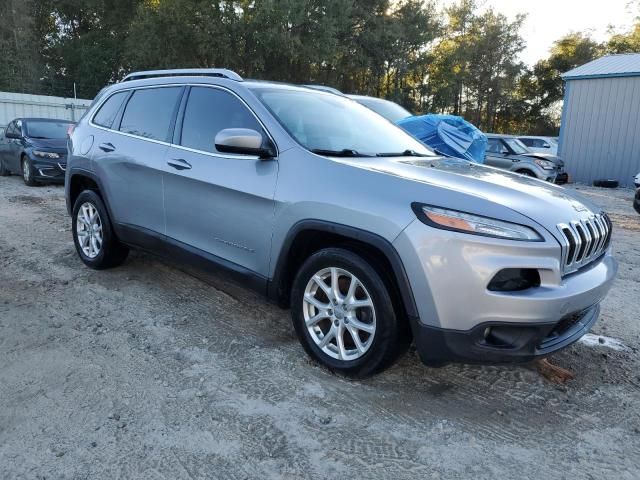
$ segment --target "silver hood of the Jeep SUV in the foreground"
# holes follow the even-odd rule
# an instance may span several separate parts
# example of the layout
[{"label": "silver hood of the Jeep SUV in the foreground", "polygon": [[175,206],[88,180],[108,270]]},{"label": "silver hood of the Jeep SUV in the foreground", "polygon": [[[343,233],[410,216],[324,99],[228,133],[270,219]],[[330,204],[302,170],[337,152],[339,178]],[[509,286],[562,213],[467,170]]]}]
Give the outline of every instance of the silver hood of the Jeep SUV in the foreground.
[{"label": "silver hood of the Jeep SUV in the foreground", "polygon": [[[407,180],[480,197],[507,207],[541,224],[554,235],[556,226],[582,220],[602,211],[578,193],[536,178],[454,158],[359,158],[344,163]],[[433,197],[433,191],[425,191]],[[411,201],[437,204],[428,198]],[[473,200],[470,199],[470,204]],[[447,205],[441,205],[446,207]],[[476,212],[479,213],[479,212]]]}]

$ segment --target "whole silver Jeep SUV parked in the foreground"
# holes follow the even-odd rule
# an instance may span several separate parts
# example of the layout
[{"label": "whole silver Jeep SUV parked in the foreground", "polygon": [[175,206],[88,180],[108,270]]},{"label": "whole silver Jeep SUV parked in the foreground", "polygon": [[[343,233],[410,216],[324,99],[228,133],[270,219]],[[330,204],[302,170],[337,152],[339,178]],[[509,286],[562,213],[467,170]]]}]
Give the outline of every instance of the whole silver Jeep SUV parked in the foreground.
[{"label": "whole silver Jeep SUV parked in the foreground", "polygon": [[309,355],[365,376],[549,355],[594,324],[611,222],[548,183],[443,158],[366,107],[228,70],[131,74],[69,141],[82,261],[130,247],[223,269],[290,307]]}]

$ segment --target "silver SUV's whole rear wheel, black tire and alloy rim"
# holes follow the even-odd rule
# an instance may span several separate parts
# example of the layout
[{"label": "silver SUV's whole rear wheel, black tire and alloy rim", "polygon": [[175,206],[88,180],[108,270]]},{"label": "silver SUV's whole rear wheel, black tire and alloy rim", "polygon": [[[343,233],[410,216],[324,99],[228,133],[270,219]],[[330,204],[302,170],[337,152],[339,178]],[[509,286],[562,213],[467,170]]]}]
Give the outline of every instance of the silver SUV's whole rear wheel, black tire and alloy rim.
[{"label": "silver SUV's whole rear wheel, black tire and alloy rim", "polygon": [[107,209],[93,190],[82,192],[73,207],[73,243],[84,264],[96,270],[121,265],[129,254],[111,227]]}]

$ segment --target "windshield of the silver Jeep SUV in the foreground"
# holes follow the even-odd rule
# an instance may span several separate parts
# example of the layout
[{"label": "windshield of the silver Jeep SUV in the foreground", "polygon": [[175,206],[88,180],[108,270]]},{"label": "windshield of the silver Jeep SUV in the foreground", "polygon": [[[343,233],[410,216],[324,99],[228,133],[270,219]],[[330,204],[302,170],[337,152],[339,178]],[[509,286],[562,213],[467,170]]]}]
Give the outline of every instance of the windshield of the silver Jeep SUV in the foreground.
[{"label": "windshield of the silver Jeep SUV in the foreground", "polygon": [[408,151],[434,155],[400,128],[348,98],[261,87],[254,87],[253,92],[291,136],[309,150],[349,152],[350,156]]}]

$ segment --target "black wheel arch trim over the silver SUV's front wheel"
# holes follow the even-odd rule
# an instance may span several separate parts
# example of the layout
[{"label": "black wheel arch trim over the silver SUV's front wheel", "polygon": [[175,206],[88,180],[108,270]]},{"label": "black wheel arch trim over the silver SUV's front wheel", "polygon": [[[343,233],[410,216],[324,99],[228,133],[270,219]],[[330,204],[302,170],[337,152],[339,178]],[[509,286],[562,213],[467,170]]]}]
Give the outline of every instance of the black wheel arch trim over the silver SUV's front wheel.
[{"label": "black wheel arch trim over the silver SUV's front wheel", "polygon": [[370,262],[390,287],[399,313],[411,321],[418,319],[409,278],[391,242],[366,230],[324,220],[302,220],[289,230],[268,285],[269,298],[287,307],[293,279],[302,263],[313,253],[328,247],[345,248]]}]

